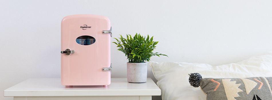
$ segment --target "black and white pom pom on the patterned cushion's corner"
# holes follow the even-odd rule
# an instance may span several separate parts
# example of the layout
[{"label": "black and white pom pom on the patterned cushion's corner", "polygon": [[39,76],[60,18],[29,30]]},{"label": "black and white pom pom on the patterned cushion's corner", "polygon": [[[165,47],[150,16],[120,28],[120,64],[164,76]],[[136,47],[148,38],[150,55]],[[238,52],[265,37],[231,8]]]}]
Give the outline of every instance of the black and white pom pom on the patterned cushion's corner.
[{"label": "black and white pom pom on the patterned cushion's corner", "polygon": [[191,86],[199,87],[202,76],[199,73],[191,73],[189,75],[189,83],[191,84]]}]

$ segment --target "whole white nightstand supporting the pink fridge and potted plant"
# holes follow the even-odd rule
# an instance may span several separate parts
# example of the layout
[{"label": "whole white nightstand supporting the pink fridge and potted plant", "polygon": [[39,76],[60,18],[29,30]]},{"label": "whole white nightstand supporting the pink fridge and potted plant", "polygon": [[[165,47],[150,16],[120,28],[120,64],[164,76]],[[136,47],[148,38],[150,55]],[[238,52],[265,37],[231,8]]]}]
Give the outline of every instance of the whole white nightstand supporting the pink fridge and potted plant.
[{"label": "whole white nightstand supporting the pink fridge and potted plant", "polygon": [[4,91],[4,96],[14,97],[14,100],[151,100],[152,95],[161,95],[161,90],[151,78],[147,78],[146,83],[111,78],[108,87],[65,87],[59,78],[34,78]]}]

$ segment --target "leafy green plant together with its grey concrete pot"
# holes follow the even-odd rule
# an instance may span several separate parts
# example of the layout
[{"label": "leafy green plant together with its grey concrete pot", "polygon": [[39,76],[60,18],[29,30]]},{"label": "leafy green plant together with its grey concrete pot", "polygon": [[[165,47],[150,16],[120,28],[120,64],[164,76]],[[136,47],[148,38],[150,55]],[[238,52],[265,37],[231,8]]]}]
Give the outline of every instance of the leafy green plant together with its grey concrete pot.
[{"label": "leafy green plant together with its grey concrete pot", "polygon": [[[127,81],[130,83],[144,83],[147,79],[147,63],[152,56],[167,56],[161,53],[153,53],[158,41],[153,41],[153,36],[149,38],[140,34],[134,37],[127,35],[127,38],[114,38],[117,42],[113,42],[119,47],[119,51],[125,53],[129,62],[127,62]],[[168,57],[168,56],[167,56]]]}]

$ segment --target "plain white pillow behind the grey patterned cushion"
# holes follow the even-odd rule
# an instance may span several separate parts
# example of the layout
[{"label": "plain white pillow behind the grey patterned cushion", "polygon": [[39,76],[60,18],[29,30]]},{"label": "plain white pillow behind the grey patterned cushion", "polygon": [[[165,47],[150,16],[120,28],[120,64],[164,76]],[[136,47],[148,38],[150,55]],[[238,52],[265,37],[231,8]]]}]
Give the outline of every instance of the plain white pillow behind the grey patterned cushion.
[{"label": "plain white pillow behind the grey patterned cushion", "polygon": [[202,78],[272,77],[272,54],[214,67],[184,62],[149,62],[149,65],[158,80],[163,100],[206,100],[200,87],[190,86],[189,73],[200,73]]}]

